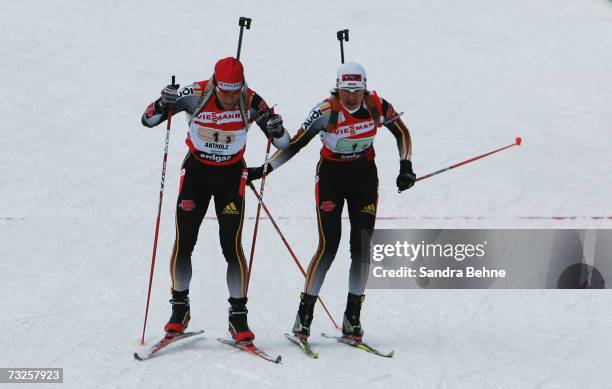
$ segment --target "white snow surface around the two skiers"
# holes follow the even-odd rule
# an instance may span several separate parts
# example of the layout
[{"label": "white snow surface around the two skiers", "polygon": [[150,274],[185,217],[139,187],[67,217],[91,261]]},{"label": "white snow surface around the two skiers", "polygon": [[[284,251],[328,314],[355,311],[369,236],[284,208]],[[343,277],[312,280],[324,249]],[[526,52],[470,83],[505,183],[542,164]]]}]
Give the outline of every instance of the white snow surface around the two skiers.
[{"label": "white snow surface around the two skiers", "polygon": [[[175,74],[207,79],[234,55],[295,132],[348,60],[405,111],[425,174],[515,136],[524,145],[397,194],[397,151],[376,140],[380,228],[610,228],[612,3],[603,0],[4,1],[0,13],[0,367],[63,367],[66,388],[610,387],[606,291],[372,290],[362,314],[383,359],[331,343],[317,308],[307,360],[282,334],[302,276],[260,224],[250,323],[272,365],[226,336],[225,263],[214,219],[193,255],[191,327],[205,336],[140,363],[165,126],[140,115]],[[173,122],[147,344],[169,314],[167,258],[185,154]],[[260,164],[254,128],[247,162]],[[274,172],[265,199],[304,265],[316,246],[319,142]],[[256,206],[249,196],[244,246]],[[212,215],[209,215],[212,216]],[[554,220],[551,216],[576,216]],[[531,219],[530,217],[536,217]],[[345,232],[348,221],[345,222]],[[344,234],[321,295],[337,320],[347,289]],[[36,386],[38,387],[38,386]]]}]

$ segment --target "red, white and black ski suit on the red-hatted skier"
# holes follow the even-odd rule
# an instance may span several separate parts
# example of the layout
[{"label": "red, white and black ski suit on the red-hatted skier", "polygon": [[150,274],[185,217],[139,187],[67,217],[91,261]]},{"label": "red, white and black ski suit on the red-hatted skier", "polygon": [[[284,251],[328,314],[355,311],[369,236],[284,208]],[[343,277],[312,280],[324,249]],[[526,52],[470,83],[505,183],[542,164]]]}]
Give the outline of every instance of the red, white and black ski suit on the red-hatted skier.
[{"label": "red, white and black ski suit on the red-hatted skier", "polygon": [[[242,250],[246,166],[243,154],[249,121],[267,134],[266,102],[254,91],[243,88],[240,103],[224,109],[216,94],[206,96],[207,85],[200,81],[179,91],[172,114],[186,112],[189,152],[181,167],[179,195],[176,202],[176,239],[170,260],[172,289],[185,291],[191,281],[191,254],[211,198],[219,222],[219,240],[227,261],[227,286],[230,297],[246,297],[247,263]],[[142,116],[142,124],[156,126],[167,120],[159,100],[151,103]],[[288,138],[288,134],[285,132]],[[276,144],[277,139],[273,140]]]}]

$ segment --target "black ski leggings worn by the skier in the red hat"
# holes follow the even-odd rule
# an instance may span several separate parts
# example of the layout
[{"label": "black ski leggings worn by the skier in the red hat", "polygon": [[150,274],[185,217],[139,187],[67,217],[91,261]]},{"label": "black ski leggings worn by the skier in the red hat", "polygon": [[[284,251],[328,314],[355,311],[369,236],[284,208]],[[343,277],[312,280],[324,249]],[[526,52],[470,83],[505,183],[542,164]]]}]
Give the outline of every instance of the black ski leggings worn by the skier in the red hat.
[{"label": "black ski leggings worn by the skier in the red hat", "polygon": [[211,166],[191,154],[183,161],[176,203],[176,239],[170,259],[172,289],[189,289],[191,253],[210,199],[214,197],[219,240],[227,261],[229,294],[234,298],[246,297],[247,264],[242,251],[245,169],[244,161]]}]

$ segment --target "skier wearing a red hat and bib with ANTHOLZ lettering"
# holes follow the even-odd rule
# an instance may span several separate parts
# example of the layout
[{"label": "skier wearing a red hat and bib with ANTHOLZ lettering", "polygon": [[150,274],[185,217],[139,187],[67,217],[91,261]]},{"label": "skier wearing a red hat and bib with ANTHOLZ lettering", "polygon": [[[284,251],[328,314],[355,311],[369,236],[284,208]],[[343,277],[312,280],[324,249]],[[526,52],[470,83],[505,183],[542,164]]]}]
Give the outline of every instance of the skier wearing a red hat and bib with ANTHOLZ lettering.
[{"label": "skier wearing a red hat and bib with ANTHOLZ lettering", "polygon": [[247,263],[242,250],[244,192],[247,179],[243,155],[250,122],[256,120],[277,148],[289,146],[289,134],[280,115],[263,98],[247,87],[244,69],[235,58],[215,65],[208,81],[198,81],[178,90],[168,85],[151,103],[142,124],[156,126],[172,114],[186,112],[189,152],[181,168],[176,203],[176,239],[170,260],[172,315],[164,327],[184,332],[190,319],[189,283],[191,254],[200,225],[214,197],[219,221],[219,240],[227,261],[229,330],[235,341],[254,339],[247,322]]}]

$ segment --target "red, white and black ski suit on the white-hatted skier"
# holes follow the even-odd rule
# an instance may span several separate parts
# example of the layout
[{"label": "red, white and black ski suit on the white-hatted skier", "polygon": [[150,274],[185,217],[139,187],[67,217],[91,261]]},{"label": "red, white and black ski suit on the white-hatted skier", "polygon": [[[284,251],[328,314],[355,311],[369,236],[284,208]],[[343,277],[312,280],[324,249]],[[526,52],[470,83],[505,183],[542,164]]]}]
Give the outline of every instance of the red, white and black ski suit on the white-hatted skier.
[{"label": "red, white and black ski suit on the white-hatted skier", "polygon": [[354,295],[364,292],[369,256],[362,256],[362,252],[368,252],[378,205],[373,142],[382,125],[395,136],[400,160],[410,159],[408,128],[392,105],[375,92],[366,92],[363,104],[352,112],[333,95],[317,104],[291,140],[290,147],[272,157],[270,167],[276,170],[317,134],[323,142],[315,179],[319,245],[308,266],[304,286],[307,295],[318,295],[336,256],[345,200],[351,224],[349,292]]}]

